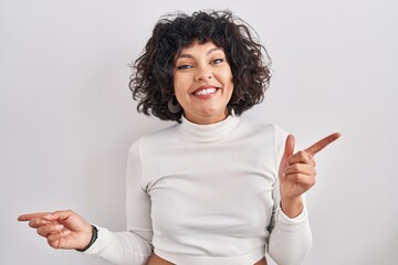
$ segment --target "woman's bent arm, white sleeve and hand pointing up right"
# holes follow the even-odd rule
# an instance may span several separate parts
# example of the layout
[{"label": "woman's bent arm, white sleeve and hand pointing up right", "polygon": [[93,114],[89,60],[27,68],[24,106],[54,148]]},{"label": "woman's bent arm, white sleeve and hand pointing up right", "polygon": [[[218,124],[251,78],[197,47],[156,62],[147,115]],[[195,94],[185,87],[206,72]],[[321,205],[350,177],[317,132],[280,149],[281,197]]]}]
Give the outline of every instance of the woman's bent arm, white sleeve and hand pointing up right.
[{"label": "woman's bent arm, white sleeve and hand pointing up right", "polygon": [[280,265],[301,264],[312,247],[312,234],[304,193],[315,183],[314,155],[336,140],[333,134],[304,151],[294,152],[294,137],[287,136],[284,151],[277,148],[279,177],[273,190],[275,201],[270,225],[269,254]]}]

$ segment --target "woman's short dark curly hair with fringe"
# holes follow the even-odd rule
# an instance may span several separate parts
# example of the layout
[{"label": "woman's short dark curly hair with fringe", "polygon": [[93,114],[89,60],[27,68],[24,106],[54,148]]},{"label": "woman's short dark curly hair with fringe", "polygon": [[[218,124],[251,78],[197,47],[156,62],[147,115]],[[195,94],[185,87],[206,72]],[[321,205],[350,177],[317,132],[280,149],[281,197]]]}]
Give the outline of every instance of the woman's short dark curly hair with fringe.
[{"label": "woman's short dark curly hair with fringe", "polygon": [[[264,98],[271,77],[266,50],[253,38],[252,28],[231,11],[197,11],[161,17],[143,54],[133,65],[129,88],[137,110],[163,120],[181,121],[182,109],[174,114],[167,103],[174,97],[175,57],[193,41],[222,47],[233,75],[228,112],[241,115]],[[263,53],[262,53],[263,52]]]}]

